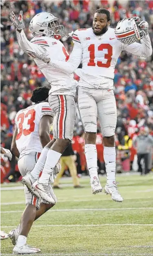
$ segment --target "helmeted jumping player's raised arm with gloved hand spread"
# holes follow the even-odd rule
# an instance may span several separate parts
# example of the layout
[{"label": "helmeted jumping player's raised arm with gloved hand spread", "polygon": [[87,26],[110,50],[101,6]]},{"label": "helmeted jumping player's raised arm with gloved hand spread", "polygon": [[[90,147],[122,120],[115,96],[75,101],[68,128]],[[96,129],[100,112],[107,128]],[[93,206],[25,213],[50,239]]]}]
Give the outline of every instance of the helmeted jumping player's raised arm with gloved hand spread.
[{"label": "helmeted jumping player's raised arm with gloved hand spread", "polygon": [[18,44],[20,48],[25,52],[25,53],[44,53],[45,49],[43,49],[39,45],[35,45],[32,42],[29,42],[27,39],[23,29],[25,27],[24,22],[23,22],[23,12],[20,11],[19,17],[16,17],[16,15],[11,11],[10,13],[10,20],[13,22],[13,24],[16,26],[16,36],[18,39]]}]

